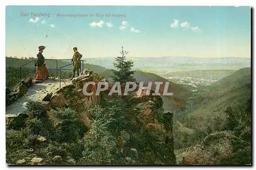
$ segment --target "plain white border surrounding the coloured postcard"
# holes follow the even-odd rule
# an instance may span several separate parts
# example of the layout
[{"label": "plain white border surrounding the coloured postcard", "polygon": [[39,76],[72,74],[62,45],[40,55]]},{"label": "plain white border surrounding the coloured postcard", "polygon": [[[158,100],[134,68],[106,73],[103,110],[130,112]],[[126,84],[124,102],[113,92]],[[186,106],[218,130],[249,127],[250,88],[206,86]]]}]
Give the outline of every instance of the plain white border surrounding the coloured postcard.
[{"label": "plain white border surrounding the coloured postcard", "polygon": [[[169,1],[166,1],[166,0],[157,0],[157,1],[138,1],[138,0],[130,0],[130,1],[114,1],[114,0],[107,0],[107,1],[104,1],[104,0],[101,0],[101,1],[86,1],[86,3],[84,3],[84,1],[68,1],[68,2],[63,2],[63,1],[57,1],[57,2],[53,2],[53,1],[50,1],[50,0],[45,0],[45,1],[28,1],[28,0],[22,0],[22,1],[8,1],[8,2],[4,2],[4,1],[1,1],[1,20],[2,20],[2,25],[1,25],[1,54],[2,54],[2,58],[1,58],[1,62],[0,62],[0,69],[3,69],[0,71],[1,73],[1,79],[4,81],[5,80],[5,6],[7,5],[143,5],[143,6],[165,6],[165,5],[169,5],[169,6],[252,6],[252,7],[255,7],[255,0],[252,1],[252,0],[249,0],[249,1],[241,1],[241,0],[232,0],[232,1],[223,1],[223,0],[214,0],[214,1],[205,1],[205,0],[193,0],[193,1],[189,1],[189,0],[178,0],[178,1],[172,1],[172,2],[169,2]],[[255,9],[254,9],[254,14],[255,14]],[[255,18],[253,18],[253,22],[255,22]],[[254,38],[254,37],[253,37]],[[255,47],[255,44],[253,45],[253,47]],[[255,75],[253,76],[253,78],[255,78]],[[255,85],[255,84],[254,84]],[[255,88],[254,88],[255,89]],[[0,87],[0,90],[1,90],[1,96],[3,96],[3,100],[1,102],[1,111],[2,111],[2,118],[1,118],[1,143],[2,143],[2,147],[1,147],[1,151],[0,151],[0,155],[1,155],[1,158],[0,158],[0,166],[1,168],[8,168],[6,165],[5,165],[5,99],[4,99],[4,96],[5,96],[5,83],[1,83],[1,87]],[[254,92],[253,92],[254,94]],[[253,95],[254,96],[254,95]],[[256,102],[253,101],[253,105],[256,106]],[[253,113],[252,113],[253,114]],[[253,120],[255,119],[255,116],[253,116]],[[253,121],[254,123],[255,121]],[[254,126],[253,126],[254,127]],[[252,132],[254,132],[254,128],[252,130]],[[253,133],[253,136],[254,136],[254,133]],[[254,157],[253,157],[254,158]],[[255,159],[253,159],[253,162],[255,162]],[[113,166],[112,166],[113,167]],[[146,166],[148,167],[148,166]],[[12,167],[12,168],[17,168],[17,167]],[[19,167],[20,168],[20,167]],[[25,167],[27,168],[27,167]],[[35,166],[33,168],[40,168],[40,166]],[[71,168],[71,167],[63,167],[63,166],[60,166],[60,167],[48,167],[50,169],[53,169],[53,168]],[[91,167],[79,167],[79,168],[91,168]],[[96,168],[96,167],[94,167]],[[97,167],[98,169],[99,168],[102,168],[102,167]],[[103,167],[104,168],[104,167]],[[108,168],[108,167],[107,167]],[[116,168],[120,168],[120,166],[116,167]],[[126,166],[127,168],[127,166]],[[142,167],[128,167],[128,168],[142,168]],[[162,166],[159,166],[159,167],[151,167],[151,168],[164,168]],[[187,167],[172,167],[172,166],[169,166],[167,168],[187,168]],[[192,167],[193,168],[193,167]],[[194,167],[195,168],[195,167]],[[197,167],[196,167],[197,168]],[[207,167],[201,167],[203,169],[207,168]],[[219,168],[219,167],[216,167],[216,168]],[[233,168],[233,167],[228,167],[228,168]]]}]

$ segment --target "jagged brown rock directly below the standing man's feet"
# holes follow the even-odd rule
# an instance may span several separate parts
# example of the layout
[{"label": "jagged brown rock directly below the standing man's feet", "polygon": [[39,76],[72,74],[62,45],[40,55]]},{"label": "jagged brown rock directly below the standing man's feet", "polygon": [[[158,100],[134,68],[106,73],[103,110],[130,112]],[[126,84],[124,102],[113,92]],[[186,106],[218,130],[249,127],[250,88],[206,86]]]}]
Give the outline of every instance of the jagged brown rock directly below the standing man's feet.
[{"label": "jagged brown rock directly below the standing man's feet", "polygon": [[87,91],[96,92],[97,83],[101,81],[101,77],[91,70],[84,70],[83,75],[74,78],[71,85],[62,87],[57,90],[50,99],[50,107],[52,109],[72,108],[79,113],[79,117],[89,129],[91,125],[91,115],[89,109],[97,105],[100,101],[99,95],[83,94],[83,86],[86,82],[93,81],[95,86],[89,85]]}]

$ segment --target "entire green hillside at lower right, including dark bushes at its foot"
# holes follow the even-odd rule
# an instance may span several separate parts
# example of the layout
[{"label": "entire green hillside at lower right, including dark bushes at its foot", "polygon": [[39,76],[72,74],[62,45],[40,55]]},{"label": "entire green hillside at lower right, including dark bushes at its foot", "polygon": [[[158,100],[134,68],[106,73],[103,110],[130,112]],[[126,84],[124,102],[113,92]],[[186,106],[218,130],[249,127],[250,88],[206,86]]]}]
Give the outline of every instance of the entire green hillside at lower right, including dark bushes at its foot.
[{"label": "entire green hillside at lower right, including dark bushes at its foot", "polygon": [[242,68],[189,99],[174,115],[180,164],[251,163],[251,68]]}]

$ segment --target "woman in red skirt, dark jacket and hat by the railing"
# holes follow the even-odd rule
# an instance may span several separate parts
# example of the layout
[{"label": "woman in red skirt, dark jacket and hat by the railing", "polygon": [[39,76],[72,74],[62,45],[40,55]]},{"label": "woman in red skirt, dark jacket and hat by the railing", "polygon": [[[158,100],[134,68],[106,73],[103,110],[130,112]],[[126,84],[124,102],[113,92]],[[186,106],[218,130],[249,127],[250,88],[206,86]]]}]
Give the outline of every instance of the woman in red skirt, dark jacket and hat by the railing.
[{"label": "woman in red skirt, dark jacket and hat by the railing", "polygon": [[36,61],[36,71],[35,71],[35,80],[46,80],[48,78],[48,70],[45,64],[45,57],[42,55],[42,51],[45,50],[45,46],[39,46]]}]

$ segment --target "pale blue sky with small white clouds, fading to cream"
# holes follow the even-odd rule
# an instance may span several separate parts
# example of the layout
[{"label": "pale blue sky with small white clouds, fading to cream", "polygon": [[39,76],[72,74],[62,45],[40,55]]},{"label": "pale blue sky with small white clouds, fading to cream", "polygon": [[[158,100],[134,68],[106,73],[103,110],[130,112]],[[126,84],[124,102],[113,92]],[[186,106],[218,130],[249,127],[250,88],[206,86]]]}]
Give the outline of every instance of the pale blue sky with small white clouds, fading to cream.
[{"label": "pale blue sky with small white clouds, fading to cream", "polygon": [[[251,56],[250,7],[7,6],[6,56],[84,58]],[[94,16],[93,16],[94,15]]]}]

